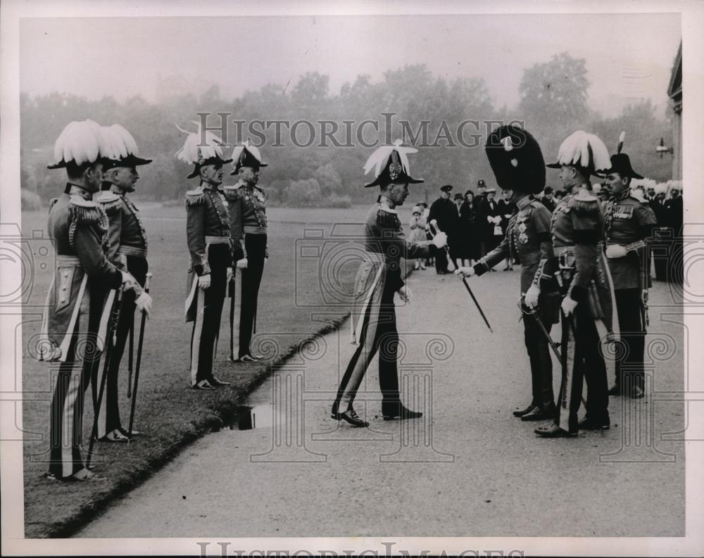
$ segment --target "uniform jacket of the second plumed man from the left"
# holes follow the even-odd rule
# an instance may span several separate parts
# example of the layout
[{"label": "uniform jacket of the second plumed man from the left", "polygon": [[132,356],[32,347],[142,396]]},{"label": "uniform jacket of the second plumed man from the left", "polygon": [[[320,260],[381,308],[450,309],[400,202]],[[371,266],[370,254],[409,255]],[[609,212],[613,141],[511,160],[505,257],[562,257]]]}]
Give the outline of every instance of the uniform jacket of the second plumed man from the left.
[{"label": "uniform jacket of the second plumed man from the left", "polygon": [[146,232],[139,210],[126,194],[101,191],[94,198],[108,216],[108,260],[126,271],[123,256],[146,258]]}]

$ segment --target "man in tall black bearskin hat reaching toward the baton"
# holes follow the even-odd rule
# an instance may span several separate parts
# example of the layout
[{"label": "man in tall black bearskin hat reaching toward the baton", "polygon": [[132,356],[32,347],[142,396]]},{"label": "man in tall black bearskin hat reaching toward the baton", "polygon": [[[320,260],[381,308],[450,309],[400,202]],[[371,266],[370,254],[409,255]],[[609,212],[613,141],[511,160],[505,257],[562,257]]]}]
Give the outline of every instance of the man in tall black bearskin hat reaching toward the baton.
[{"label": "man in tall black bearskin hat reaching toward the baton", "polygon": [[[556,260],[550,234],[551,213],[534,198],[545,186],[545,162],[538,142],[515,125],[489,134],[486,156],[496,183],[518,211],[511,216],[499,245],[474,267],[460,267],[466,277],[482,275],[504,258],[521,262],[520,305],[524,312],[524,343],[531,369],[532,399],[513,414],[524,421],[554,419],[553,361],[547,336],[558,321],[560,293],[555,280]],[[540,320],[540,324],[537,322]]]}]

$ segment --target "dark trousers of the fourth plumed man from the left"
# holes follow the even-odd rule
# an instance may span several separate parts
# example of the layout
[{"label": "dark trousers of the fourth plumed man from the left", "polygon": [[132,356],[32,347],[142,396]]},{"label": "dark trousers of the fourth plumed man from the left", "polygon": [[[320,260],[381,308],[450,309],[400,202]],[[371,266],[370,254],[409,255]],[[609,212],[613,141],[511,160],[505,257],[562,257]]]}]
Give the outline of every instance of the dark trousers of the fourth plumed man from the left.
[{"label": "dark trousers of the fourth plumed man from the left", "polygon": [[265,234],[245,234],[244,246],[247,251],[247,268],[242,270],[242,303],[239,321],[239,355],[249,355],[249,345],[256,330],[259,286],[264,273],[264,255],[267,236]]}]

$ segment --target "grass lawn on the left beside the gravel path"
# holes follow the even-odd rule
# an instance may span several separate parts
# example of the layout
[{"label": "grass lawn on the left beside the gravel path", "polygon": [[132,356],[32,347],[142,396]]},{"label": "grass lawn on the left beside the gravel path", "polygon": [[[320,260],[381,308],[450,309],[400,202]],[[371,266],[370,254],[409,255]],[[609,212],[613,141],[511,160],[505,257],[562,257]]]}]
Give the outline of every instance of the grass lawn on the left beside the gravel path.
[{"label": "grass lawn on the left beside the gravel path", "polygon": [[[237,405],[271,372],[271,364],[285,357],[298,343],[320,329],[336,324],[348,313],[346,294],[352,290],[358,267],[358,249],[350,248],[360,233],[367,207],[338,209],[272,208],[270,216],[270,258],[260,290],[257,337],[260,353],[270,360],[263,364],[232,364],[227,361],[226,324],[229,302],[225,302],[221,343],[215,375],[232,381],[232,386],[214,392],[194,391],[189,386],[189,340],[192,324],[184,323],[188,252],[185,210],[140,204],[149,240],[149,265],[153,272],[151,295],[153,316],[147,322],[139,378],[139,399],[135,429],[140,436],[128,445],[96,444],[94,467],[107,476],[103,483],[58,483],[42,475],[47,469],[49,405],[55,375],[46,363],[27,354],[32,338],[39,333],[42,305],[51,280],[53,252],[33,271],[32,291],[23,309],[23,431],[25,481],[25,536],[27,538],[68,536],[84,524],[115,495],[161,467],[184,445],[216,429],[237,414]],[[46,231],[46,210],[23,213],[23,236]],[[410,206],[403,208],[402,222],[408,222]],[[334,223],[340,223],[334,226]],[[355,226],[353,223],[357,223]],[[347,225],[344,225],[347,224]],[[348,224],[353,224],[348,226]],[[306,229],[313,236],[304,239]],[[312,233],[310,232],[312,231]],[[334,240],[323,241],[334,235]],[[309,235],[310,236],[310,235]],[[300,257],[306,244],[306,255]],[[30,244],[34,257],[41,255],[42,242]],[[316,248],[317,247],[317,248]],[[296,257],[298,253],[299,257]],[[325,269],[320,272],[320,262]],[[321,279],[322,277],[322,279]],[[139,322],[136,321],[135,347]],[[337,371],[331,371],[337,374]],[[120,415],[126,427],[130,400],[126,398],[127,355],[120,372]],[[87,391],[84,412],[84,456],[92,428],[92,403]]]}]

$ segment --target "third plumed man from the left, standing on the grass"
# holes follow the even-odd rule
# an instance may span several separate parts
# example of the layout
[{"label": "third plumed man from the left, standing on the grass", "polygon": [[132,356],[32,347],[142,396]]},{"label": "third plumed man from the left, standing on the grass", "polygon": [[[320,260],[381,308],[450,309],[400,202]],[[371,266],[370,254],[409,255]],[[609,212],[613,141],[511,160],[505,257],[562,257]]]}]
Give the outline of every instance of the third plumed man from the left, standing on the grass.
[{"label": "third plumed man from the left, standing on the grass", "polygon": [[198,177],[200,182],[197,188],[186,192],[186,234],[191,254],[186,321],[193,322],[191,387],[212,391],[230,384],[215,377],[213,359],[227,276],[232,272],[230,215],[225,194],[218,186],[222,184],[222,165],[232,159],[222,157],[220,138],[207,130],[202,133],[200,129],[188,134],[176,156],[194,165],[188,178]]}]

